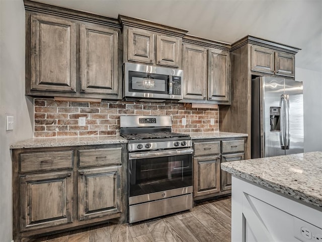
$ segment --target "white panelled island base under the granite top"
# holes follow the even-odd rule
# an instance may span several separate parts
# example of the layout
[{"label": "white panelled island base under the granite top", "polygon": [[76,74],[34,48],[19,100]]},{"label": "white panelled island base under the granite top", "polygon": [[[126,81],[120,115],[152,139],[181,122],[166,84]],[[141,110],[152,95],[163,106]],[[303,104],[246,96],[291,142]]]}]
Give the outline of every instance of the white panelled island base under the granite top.
[{"label": "white panelled island base under the granite top", "polygon": [[231,193],[232,242],[322,242],[322,208],[235,175]]}]

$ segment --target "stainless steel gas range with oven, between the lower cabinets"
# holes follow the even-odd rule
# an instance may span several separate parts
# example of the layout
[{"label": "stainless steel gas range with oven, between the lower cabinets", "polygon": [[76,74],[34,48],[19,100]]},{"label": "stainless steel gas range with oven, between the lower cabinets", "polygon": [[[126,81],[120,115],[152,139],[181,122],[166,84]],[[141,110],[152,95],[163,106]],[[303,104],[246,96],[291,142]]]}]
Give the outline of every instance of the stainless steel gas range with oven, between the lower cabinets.
[{"label": "stainless steel gas range with oven, between the lower cabinets", "polygon": [[192,142],[171,116],[120,116],[128,140],[129,223],[191,209]]}]

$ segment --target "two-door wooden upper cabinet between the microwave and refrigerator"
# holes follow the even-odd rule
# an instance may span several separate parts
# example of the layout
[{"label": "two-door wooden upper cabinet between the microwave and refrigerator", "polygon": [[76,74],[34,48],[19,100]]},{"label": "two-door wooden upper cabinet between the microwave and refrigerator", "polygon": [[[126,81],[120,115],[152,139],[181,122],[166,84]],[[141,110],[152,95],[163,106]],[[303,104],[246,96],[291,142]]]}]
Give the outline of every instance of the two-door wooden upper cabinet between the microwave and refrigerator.
[{"label": "two-door wooden upper cabinet between the microwave and refrigerator", "polygon": [[183,102],[230,104],[229,44],[184,37]]}]

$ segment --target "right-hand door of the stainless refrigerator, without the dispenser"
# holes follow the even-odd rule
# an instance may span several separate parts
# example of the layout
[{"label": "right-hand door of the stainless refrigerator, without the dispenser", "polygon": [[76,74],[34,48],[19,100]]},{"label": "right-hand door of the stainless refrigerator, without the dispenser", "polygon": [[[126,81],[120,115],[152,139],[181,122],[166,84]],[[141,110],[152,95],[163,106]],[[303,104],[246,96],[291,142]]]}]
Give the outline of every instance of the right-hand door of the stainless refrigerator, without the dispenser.
[{"label": "right-hand door of the stainless refrigerator, without the dispenser", "polygon": [[[303,83],[285,79],[285,94],[289,97],[289,149],[285,154],[304,152]],[[287,137],[287,136],[286,136]]]}]

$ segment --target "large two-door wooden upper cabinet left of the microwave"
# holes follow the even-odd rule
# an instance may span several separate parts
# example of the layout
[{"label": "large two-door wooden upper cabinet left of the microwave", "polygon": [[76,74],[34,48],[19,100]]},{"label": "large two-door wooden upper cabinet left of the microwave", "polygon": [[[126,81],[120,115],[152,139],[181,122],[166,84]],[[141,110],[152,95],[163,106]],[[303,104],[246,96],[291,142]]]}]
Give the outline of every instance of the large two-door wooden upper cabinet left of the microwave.
[{"label": "large two-door wooden upper cabinet left of the microwave", "polygon": [[[24,3],[27,95],[122,98],[117,20]],[[47,14],[48,10],[52,14]]]}]

